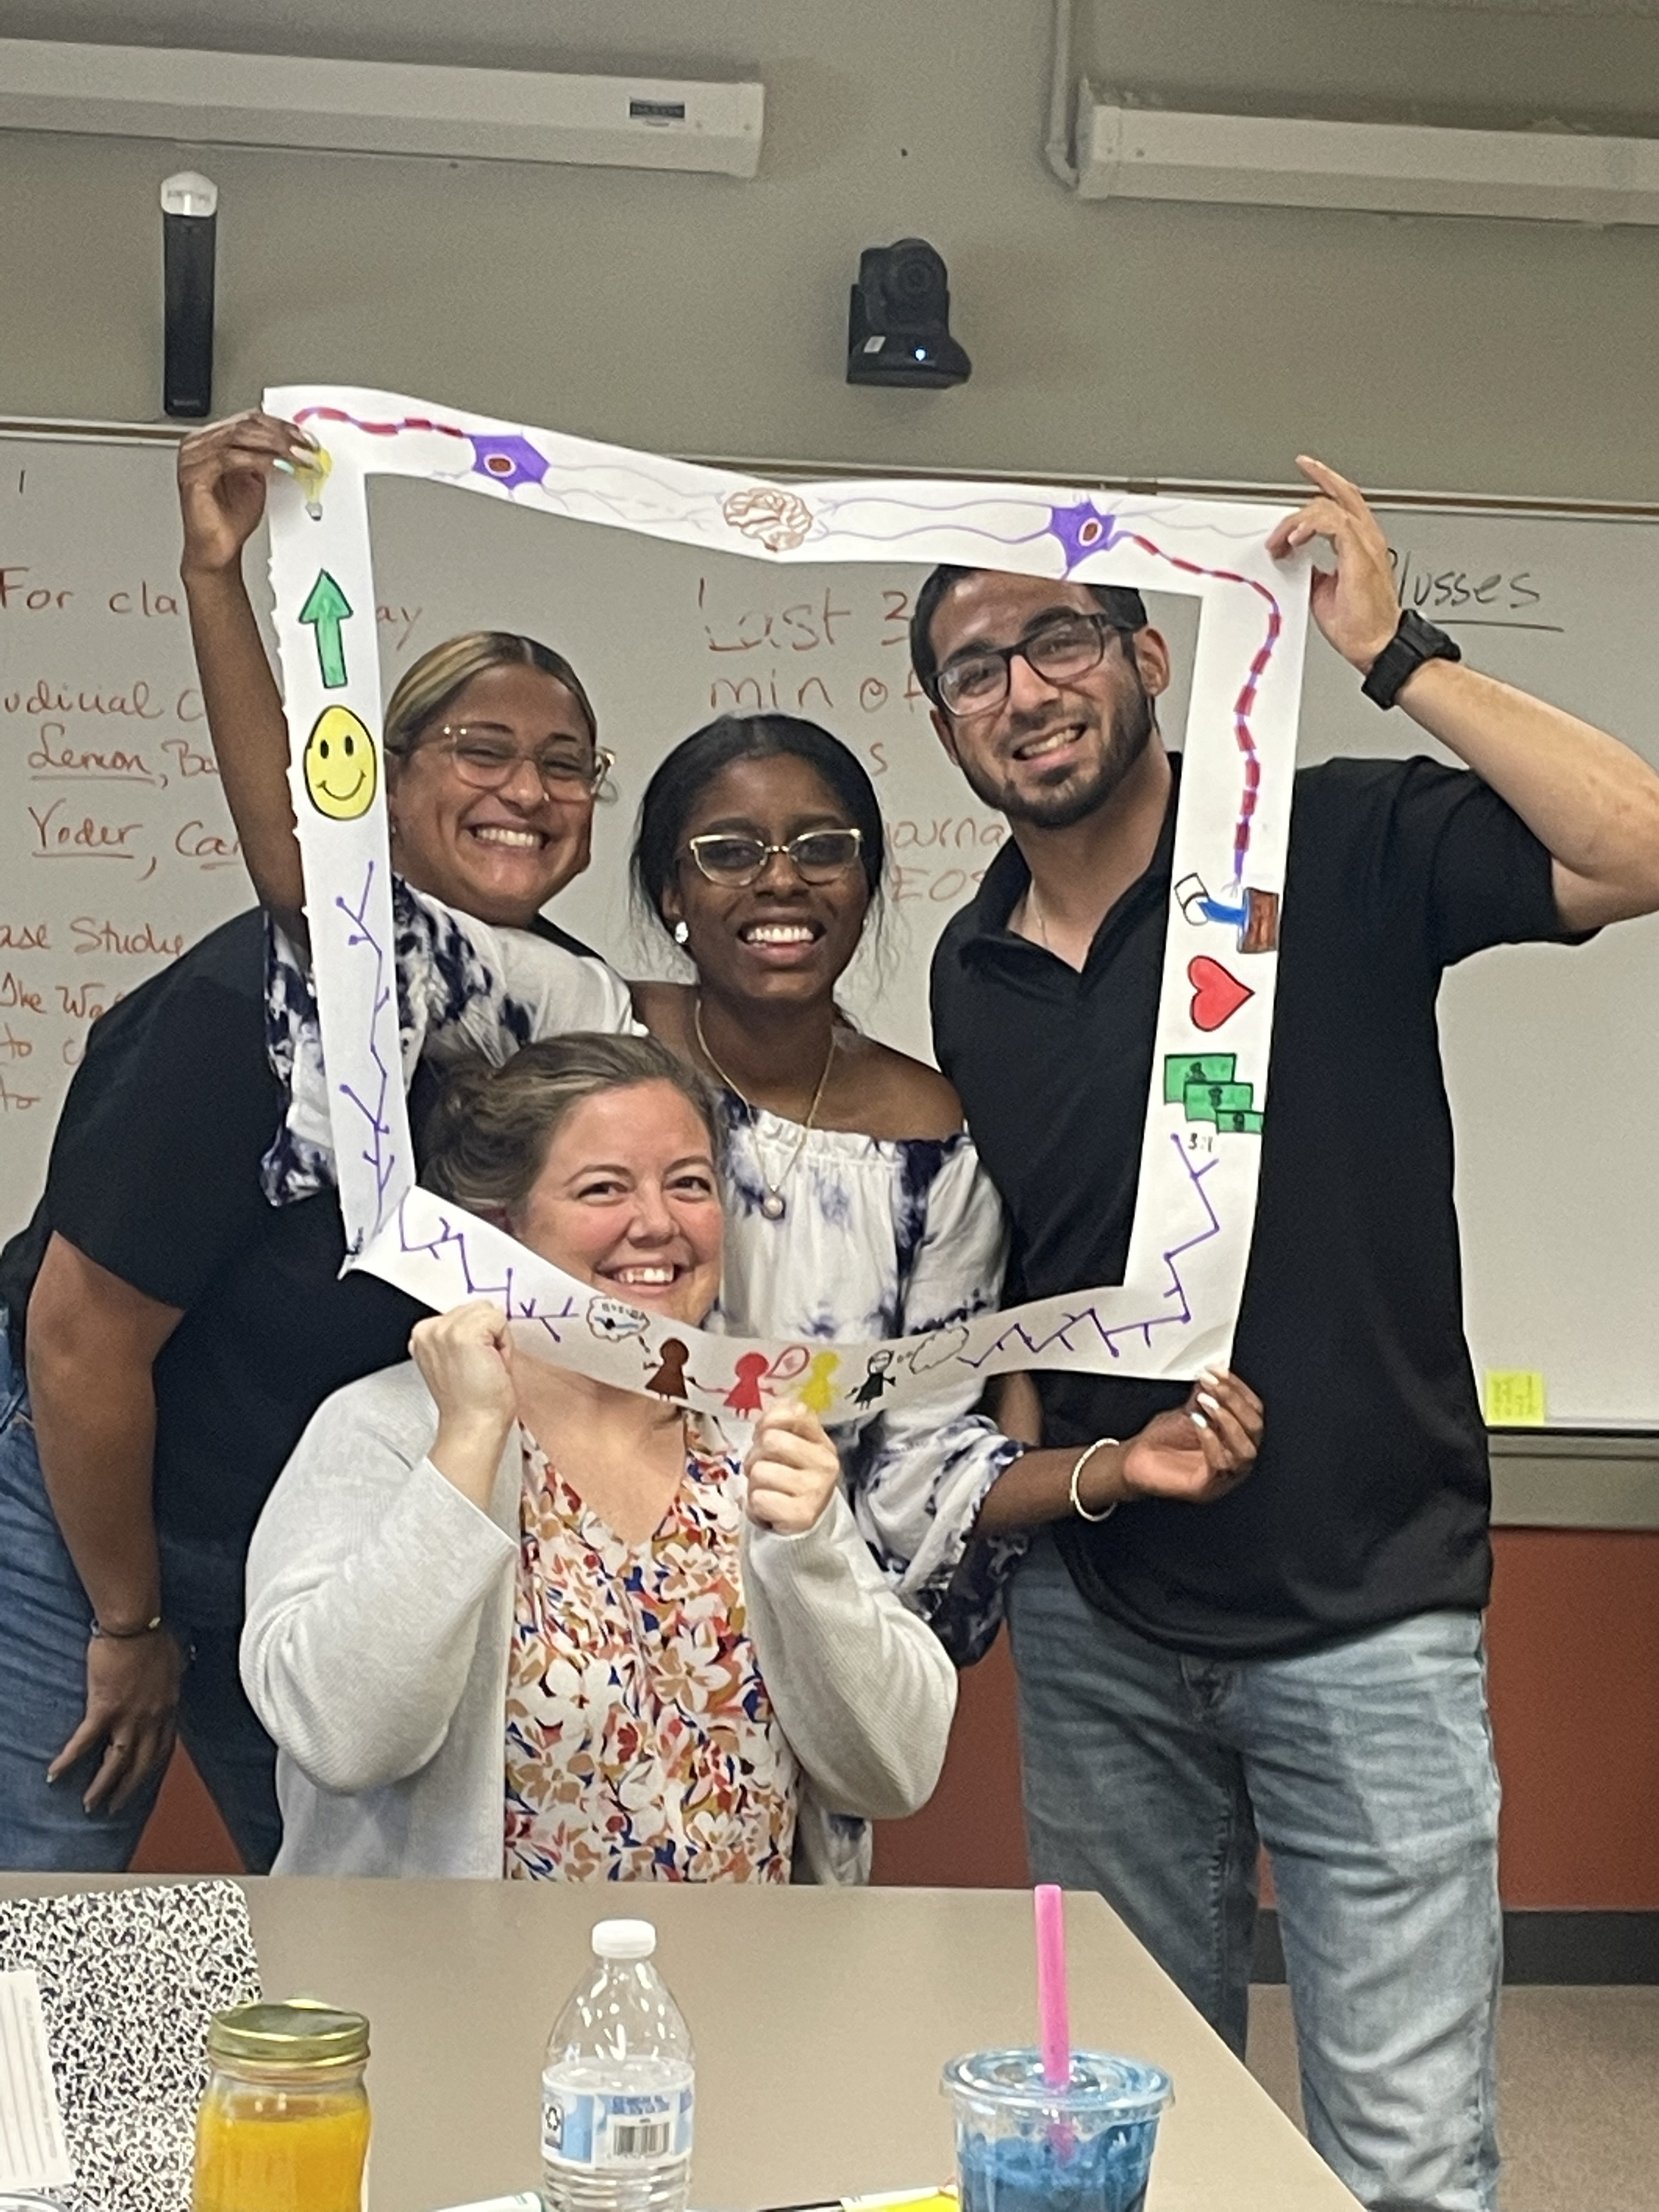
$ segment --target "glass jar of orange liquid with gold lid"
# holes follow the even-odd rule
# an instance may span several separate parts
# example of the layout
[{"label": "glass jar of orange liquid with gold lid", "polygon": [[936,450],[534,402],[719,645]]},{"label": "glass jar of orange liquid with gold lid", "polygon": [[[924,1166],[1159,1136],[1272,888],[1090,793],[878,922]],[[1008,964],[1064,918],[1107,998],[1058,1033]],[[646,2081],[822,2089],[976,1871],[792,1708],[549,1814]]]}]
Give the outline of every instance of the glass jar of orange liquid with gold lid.
[{"label": "glass jar of orange liquid with gold lid", "polygon": [[369,2024],[296,1997],[208,2028],[190,2212],[363,2212]]}]

